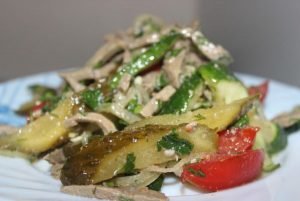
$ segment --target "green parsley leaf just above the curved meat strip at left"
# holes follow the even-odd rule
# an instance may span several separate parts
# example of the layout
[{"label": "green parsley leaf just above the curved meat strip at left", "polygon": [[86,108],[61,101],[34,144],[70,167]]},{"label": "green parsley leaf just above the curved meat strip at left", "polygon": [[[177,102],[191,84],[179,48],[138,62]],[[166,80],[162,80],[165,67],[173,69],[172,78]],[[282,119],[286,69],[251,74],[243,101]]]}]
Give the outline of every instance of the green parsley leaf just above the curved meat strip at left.
[{"label": "green parsley leaf just above the curved meat strip at left", "polygon": [[99,89],[88,89],[82,92],[81,100],[89,108],[95,110],[103,102],[103,94]]}]

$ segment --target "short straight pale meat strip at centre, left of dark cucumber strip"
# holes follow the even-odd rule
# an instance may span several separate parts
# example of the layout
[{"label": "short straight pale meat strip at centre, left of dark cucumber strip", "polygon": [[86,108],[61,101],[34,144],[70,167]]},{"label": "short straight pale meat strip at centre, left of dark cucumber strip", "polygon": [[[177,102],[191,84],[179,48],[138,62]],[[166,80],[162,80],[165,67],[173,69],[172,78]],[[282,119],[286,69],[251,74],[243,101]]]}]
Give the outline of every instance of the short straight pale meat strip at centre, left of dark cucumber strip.
[{"label": "short straight pale meat strip at centre, left of dark cucumber strip", "polygon": [[154,94],[151,100],[141,110],[141,115],[150,117],[158,109],[158,101],[167,101],[175,93],[175,88],[171,85],[165,86],[160,92]]}]

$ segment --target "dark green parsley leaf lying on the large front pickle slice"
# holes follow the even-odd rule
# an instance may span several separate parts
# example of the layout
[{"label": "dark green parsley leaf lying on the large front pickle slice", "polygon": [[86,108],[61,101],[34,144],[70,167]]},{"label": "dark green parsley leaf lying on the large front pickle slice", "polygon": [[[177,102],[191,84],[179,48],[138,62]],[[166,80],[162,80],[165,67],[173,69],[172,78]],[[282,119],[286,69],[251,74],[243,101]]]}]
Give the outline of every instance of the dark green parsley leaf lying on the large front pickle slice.
[{"label": "dark green parsley leaf lying on the large front pickle slice", "polygon": [[175,130],[172,130],[170,134],[163,136],[162,139],[157,142],[158,151],[162,149],[172,149],[178,155],[190,154],[193,147],[193,144],[189,141],[179,138]]}]

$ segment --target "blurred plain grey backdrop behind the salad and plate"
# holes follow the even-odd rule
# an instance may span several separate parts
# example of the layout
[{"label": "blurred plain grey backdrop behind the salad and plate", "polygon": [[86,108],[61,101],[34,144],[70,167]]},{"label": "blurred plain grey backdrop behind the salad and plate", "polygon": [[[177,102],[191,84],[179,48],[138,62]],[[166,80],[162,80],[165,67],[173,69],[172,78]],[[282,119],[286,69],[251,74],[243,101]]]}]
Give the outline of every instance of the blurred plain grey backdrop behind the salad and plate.
[{"label": "blurred plain grey backdrop behind the salad and plate", "polygon": [[300,86],[299,0],[0,0],[0,81],[81,66],[142,13],[197,19],[235,71]]}]

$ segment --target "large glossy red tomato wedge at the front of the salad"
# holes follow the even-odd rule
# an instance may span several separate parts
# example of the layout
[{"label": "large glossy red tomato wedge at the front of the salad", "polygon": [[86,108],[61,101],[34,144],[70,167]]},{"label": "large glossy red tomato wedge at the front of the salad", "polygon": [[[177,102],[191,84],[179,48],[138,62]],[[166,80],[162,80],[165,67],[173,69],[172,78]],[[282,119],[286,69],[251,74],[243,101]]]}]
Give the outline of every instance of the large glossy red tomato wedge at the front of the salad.
[{"label": "large glossy red tomato wedge at the front of the salad", "polygon": [[261,174],[264,152],[248,150],[236,155],[186,165],[181,179],[201,190],[217,191],[248,183]]}]

